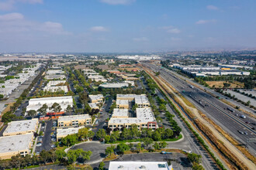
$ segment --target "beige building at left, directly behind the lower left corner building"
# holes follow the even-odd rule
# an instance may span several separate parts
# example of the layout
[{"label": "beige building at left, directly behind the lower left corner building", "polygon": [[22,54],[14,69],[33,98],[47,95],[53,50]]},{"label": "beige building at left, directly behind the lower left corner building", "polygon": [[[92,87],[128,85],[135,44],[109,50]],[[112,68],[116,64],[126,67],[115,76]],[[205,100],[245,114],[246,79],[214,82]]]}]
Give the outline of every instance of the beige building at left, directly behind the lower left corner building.
[{"label": "beige building at left, directly behind the lower left corner building", "polygon": [[36,132],[38,128],[38,119],[26,121],[12,121],[3,132],[3,136],[12,136],[17,134],[28,134]]}]

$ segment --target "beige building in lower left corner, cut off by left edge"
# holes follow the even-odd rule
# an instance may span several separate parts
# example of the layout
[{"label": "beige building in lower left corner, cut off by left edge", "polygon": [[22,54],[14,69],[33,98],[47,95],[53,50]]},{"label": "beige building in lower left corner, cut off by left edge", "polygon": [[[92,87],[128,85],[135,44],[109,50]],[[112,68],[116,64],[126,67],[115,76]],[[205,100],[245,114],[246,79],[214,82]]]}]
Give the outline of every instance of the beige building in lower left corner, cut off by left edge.
[{"label": "beige building in lower left corner, cut off by left edge", "polygon": [[33,133],[0,137],[0,159],[28,155],[33,144]]}]

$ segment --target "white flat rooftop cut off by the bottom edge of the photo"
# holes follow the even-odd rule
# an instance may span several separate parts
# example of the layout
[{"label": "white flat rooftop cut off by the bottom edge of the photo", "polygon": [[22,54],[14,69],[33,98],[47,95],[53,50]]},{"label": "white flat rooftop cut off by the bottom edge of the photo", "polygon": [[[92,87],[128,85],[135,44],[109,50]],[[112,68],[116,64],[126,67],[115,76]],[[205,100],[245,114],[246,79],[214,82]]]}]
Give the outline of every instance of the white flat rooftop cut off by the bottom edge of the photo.
[{"label": "white flat rooftop cut off by the bottom edge of the photo", "polygon": [[109,170],[171,170],[167,162],[110,162]]}]

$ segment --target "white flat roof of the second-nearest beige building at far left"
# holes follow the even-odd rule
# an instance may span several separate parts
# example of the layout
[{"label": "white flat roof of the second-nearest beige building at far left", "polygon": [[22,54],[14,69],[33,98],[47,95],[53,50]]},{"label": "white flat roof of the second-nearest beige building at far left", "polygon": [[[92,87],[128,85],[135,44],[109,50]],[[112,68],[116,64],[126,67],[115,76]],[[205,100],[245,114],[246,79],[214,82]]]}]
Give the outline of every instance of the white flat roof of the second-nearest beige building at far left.
[{"label": "white flat roof of the second-nearest beige building at far left", "polygon": [[33,131],[36,130],[36,124],[38,119],[26,120],[26,121],[12,121],[8,123],[8,127],[5,129],[4,134],[7,133],[18,133],[22,131]]}]

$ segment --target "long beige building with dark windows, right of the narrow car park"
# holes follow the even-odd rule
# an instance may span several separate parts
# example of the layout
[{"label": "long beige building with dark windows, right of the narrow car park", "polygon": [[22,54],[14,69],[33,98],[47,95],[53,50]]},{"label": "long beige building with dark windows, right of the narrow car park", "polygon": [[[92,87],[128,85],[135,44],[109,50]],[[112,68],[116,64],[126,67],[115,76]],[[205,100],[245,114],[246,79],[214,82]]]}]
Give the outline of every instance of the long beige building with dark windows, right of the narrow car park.
[{"label": "long beige building with dark windows, right of the narrow car park", "polygon": [[58,127],[71,127],[79,125],[92,124],[92,117],[88,114],[79,114],[72,116],[61,116],[57,120]]}]

